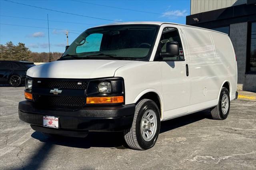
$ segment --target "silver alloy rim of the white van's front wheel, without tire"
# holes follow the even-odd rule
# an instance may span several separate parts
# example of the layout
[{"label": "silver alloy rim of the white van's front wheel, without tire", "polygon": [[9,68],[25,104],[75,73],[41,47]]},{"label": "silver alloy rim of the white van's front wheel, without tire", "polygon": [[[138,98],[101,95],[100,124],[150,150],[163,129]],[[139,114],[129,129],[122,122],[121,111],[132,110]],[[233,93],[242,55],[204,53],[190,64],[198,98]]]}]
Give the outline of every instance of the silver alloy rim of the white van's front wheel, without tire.
[{"label": "silver alloy rim of the white van's front wheel, without tire", "polygon": [[155,136],[156,119],[156,113],[153,110],[150,109],[144,113],[140,123],[140,132],[144,140],[150,141]]}]

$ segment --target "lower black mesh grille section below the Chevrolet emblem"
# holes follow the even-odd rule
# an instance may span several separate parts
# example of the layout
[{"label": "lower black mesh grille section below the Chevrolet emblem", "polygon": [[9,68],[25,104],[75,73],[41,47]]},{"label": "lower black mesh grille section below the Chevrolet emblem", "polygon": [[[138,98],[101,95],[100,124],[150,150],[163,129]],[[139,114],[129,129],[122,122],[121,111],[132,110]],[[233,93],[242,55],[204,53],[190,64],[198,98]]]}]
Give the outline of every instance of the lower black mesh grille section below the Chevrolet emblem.
[{"label": "lower black mesh grille section below the Chevrolet emblem", "polygon": [[42,106],[50,107],[83,107],[85,105],[85,97],[77,96],[48,96],[33,94],[36,103]]}]

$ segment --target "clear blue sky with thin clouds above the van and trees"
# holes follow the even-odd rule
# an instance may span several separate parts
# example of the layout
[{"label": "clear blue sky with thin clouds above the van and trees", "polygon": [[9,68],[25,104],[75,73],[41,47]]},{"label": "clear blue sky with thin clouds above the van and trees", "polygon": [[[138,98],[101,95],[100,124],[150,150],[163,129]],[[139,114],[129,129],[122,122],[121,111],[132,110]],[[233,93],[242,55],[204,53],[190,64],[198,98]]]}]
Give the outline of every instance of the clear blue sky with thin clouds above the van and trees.
[{"label": "clear blue sky with thin clouds above the van and trees", "polygon": [[70,44],[86,29],[102,24],[130,21],[185,24],[190,0],[0,0],[0,44],[22,42],[31,51],[48,52],[47,14],[50,51],[64,52],[66,30]]}]

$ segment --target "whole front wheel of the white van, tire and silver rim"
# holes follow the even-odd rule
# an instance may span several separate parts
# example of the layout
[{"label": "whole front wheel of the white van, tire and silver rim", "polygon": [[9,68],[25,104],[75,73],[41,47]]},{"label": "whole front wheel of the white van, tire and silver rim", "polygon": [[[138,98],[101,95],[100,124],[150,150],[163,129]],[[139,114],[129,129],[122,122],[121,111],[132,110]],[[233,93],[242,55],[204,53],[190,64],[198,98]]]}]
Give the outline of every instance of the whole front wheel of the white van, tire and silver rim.
[{"label": "whole front wheel of the white van, tire and silver rim", "polygon": [[126,144],[136,150],[152,148],[160,130],[160,111],[156,103],[142,99],[135,108],[132,127],[124,132]]}]

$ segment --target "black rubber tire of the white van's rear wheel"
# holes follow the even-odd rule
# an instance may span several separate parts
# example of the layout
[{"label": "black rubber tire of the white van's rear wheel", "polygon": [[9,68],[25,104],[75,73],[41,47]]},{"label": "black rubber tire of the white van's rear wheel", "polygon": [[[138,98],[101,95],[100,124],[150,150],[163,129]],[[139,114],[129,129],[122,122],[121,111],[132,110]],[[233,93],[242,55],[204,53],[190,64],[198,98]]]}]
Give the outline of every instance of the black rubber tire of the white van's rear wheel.
[{"label": "black rubber tire of the white van's rear wheel", "polygon": [[[224,102],[223,105],[228,106],[227,109],[225,109],[225,111],[222,110],[222,98],[226,97],[227,101],[226,104]],[[212,115],[212,119],[215,120],[224,120],[228,117],[228,113],[229,113],[229,109],[230,109],[230,97],[229,97],[229,91],[226,87],[222,87],[221,91],[220,91],[220,98],[219,98],[219,102],[218,105],[215,107],[212,107],[210,109],[211,111],[211,115]]]}]

